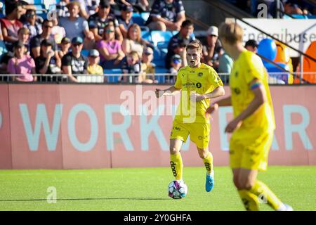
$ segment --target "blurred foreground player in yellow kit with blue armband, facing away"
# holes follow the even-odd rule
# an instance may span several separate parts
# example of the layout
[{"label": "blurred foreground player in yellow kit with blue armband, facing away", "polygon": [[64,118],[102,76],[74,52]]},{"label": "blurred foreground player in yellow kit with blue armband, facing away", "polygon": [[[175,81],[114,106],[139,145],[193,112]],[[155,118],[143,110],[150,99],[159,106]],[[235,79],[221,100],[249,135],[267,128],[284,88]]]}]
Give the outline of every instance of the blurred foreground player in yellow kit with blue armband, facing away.
[{"label": "blurred foreground player in yellow kit with blue armband, facing away", "polygon": [[268,73],[261,58],[242,45],[243,30],[236,23],[220,25],[219,37],[225,51],[235,60],[230,74],[231,96],[213,103],[206,114],[232,105],[234,119],[225,128],[230,139],[230,167],[234,184],[246,210],[259,210],[268,203],[274,210],[291,211],[268,186],[257,180],[265,171],[275,130],[275,116],[268,86]]}]

